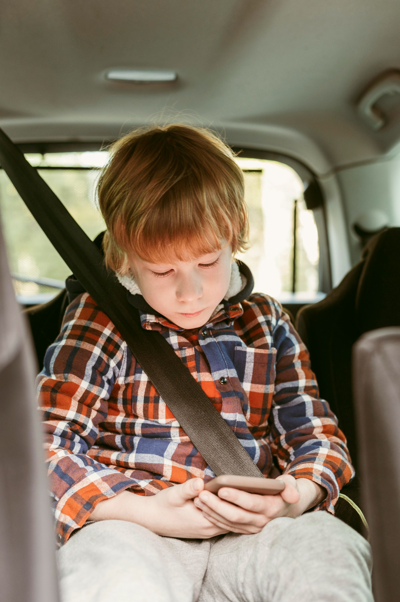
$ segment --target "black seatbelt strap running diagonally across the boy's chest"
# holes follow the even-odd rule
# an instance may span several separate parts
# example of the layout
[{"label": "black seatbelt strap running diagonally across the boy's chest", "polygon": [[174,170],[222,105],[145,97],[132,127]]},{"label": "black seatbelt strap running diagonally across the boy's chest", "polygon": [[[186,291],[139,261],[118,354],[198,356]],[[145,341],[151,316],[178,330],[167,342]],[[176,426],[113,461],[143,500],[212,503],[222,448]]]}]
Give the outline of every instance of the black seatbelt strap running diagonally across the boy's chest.
[{"label": "black seatbelt strap running diagonally across the boy's chest", "polygon": [[262,477],[201,386],[154,330],[141,326],[126,289],[104,265],[103,255],[62,202],[0,129],[0,165],[68,267],[105,312],[133,356],[215,474]]}]

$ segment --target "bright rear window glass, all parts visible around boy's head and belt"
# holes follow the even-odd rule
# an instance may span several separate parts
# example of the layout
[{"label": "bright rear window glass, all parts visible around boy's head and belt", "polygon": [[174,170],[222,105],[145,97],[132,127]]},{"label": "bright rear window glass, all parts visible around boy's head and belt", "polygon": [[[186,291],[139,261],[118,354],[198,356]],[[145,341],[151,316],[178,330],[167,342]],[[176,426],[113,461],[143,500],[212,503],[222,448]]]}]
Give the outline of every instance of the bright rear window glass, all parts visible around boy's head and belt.
[{"label": "bright rear window glass, all parts visible around boy's head and belt", "polygon": [[[90,238],[105,229],[95,205],[95,185],[98,168],[108,160],[107,152],[26,157],[38,167],[40,175]],[[318,233],[312,211],[305,206],[301,179],[291,167],[276,161],[238,157],[237,163],[244,172],[250,220],[250,247],[239,257],[253,272],[255,290],[283,303],[316,300]],[[46,302],[63,287],[70,268],[53,249],[2,170],[0,211],[19,301]]]}]

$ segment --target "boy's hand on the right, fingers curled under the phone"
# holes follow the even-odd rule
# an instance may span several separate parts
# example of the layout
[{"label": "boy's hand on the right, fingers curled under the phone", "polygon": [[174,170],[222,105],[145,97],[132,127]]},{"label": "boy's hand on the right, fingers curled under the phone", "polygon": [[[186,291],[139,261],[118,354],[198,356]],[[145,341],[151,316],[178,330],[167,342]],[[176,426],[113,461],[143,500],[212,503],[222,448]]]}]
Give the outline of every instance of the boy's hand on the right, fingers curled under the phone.
[{"label": "boy's hand on the right, fingers curled under the phone", "polygon": [[280,494],[258,495],[222,487],[218,495],[201,491],[195,505],[221,529],[249,534],[259,533],[274,518],[298,517],[326,497],[325,489],[309,479],[295,479],[289,474],[277,479],[285,482]]}]

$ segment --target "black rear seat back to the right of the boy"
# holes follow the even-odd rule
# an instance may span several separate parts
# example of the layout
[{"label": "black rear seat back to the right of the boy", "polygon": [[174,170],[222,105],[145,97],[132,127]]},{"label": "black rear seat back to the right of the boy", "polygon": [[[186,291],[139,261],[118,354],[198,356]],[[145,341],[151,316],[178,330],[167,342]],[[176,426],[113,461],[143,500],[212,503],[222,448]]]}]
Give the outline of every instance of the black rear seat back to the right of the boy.
[{"label": "black rear seat back to the right of the boy", "polygon": [[[356,470],[351,353],[360,335],[384,326],[400,326],[400,228],[389,228],[372,238],[362,261],[341,284],[297,315],[297,329],[309,349],[321,397],[338,417]],[[343,493],[360,505],[357,478]],[[344,500],[339,500],[336,514],[362,532],[359,517]]]}]

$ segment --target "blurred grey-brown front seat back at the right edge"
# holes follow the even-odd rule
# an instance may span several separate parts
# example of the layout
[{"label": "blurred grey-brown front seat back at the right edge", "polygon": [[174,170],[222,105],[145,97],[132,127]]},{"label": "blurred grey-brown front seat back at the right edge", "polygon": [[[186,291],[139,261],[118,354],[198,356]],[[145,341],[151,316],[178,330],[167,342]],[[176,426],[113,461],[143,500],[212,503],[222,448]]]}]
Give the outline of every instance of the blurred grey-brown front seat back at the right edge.
[{"label": "blurred grey-brown front seat back at the right edge", "polygon": [[400,328],[363,335],[354,346],[353,361],[374,592],[376,600],[392,602],[400,591]]}]

